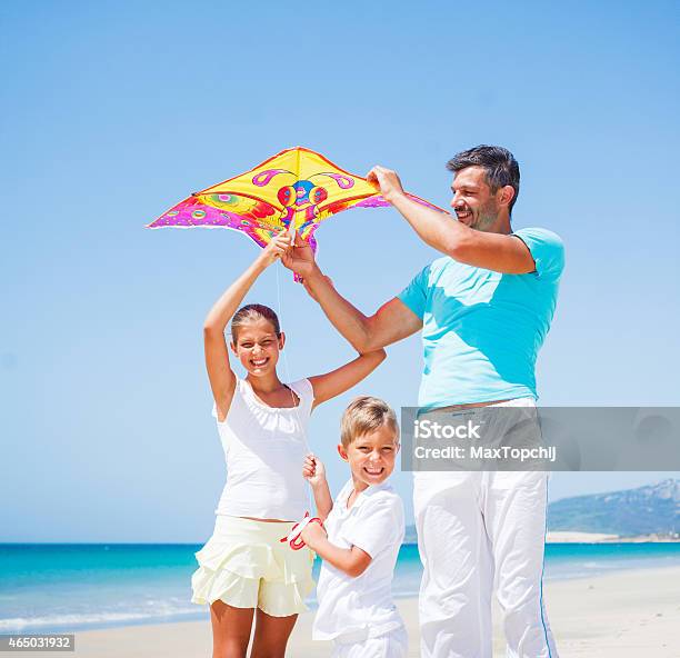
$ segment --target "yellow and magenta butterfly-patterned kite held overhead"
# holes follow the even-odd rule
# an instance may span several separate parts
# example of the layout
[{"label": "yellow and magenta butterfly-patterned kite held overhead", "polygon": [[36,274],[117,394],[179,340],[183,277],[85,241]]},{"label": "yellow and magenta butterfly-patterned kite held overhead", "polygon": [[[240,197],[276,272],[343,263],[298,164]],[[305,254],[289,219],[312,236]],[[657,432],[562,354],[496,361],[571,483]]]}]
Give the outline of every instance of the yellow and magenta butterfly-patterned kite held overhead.
[{"label": "yellow and magenta butterfly-patterned kite held overhead", "polygon": [[[422,199],[413,200],[441,210]],[[286,149],[254,169],[194,192],[147,228],[226,228],[242,231],[260,247],[282,229],[297,231],[317,250],[314,231],[328,217],[349,208],[389,203],[360,176],[320,153]]]}]

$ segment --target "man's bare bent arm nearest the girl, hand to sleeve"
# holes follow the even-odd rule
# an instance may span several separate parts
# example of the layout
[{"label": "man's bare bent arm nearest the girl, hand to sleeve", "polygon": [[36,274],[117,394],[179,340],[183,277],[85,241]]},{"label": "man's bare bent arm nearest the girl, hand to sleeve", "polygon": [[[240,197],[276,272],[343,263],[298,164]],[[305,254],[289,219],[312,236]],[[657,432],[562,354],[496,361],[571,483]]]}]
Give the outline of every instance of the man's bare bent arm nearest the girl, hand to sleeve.
[{"label": "man's bare bent arm nearest the girl, hand to sleeve", "polygon": [[394,298],[383,303],[368,317],[342,297],[314,262],[307,243],[298,237],[294,249],[282,259],[304,283],[309,295],[319,302],[333,327],[360,353],[397,342],[422,328],[421,319],[401,300]]}]

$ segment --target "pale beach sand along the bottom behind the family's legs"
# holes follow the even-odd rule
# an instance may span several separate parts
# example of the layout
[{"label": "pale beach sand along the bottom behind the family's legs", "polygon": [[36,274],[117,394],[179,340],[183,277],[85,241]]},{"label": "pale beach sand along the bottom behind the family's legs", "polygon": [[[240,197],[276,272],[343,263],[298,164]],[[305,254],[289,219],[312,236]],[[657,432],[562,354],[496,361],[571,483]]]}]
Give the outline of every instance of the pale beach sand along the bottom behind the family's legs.
[{"label": "pale beach sand along the bottom behind the family's legs", "polygon": [[[561,658],[678,658],[680,656],[680,567],[620,571],[608,576],[546,582],[546,605]],[[418,651],[418,601],[398,600]],[[312,614],[302,615],[287,656],[330,655],[311,637]],[[190,658],[211,656],[210,624],[191,621],[76,634],[83,658]],[[44,654],[22,652],[22,656]],[[504,656],[500,614],[494,610],[493,656]]]}]

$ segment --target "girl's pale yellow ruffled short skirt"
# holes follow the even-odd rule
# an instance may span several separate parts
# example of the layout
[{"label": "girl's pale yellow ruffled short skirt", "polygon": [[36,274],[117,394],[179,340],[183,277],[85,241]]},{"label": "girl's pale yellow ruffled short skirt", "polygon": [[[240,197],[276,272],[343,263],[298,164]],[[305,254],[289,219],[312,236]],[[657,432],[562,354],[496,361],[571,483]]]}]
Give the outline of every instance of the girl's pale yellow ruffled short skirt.
[{"label": "girl's pale yellow ruffled short skirt", "polygon": [[212,537],[196,554],[191,600],[212,605],[219,599],[272,617],[304,612],[304,598],[314,587],[314,558],[307,547],[293,550],[280,541],[293,525],[218,516]]}]

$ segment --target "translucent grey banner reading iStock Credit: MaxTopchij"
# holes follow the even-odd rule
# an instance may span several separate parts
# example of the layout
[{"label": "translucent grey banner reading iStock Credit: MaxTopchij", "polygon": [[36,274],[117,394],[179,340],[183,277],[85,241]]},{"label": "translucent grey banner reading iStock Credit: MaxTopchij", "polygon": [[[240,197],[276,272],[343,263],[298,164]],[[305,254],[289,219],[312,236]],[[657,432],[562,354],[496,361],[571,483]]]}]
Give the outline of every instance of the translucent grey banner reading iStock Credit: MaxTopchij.
[{"label": "translucent grey banner reading iStock Credit: MaxTopchij", "polygon": [[401,433],[402,470],[680,470],[678,407],[407,407]]}]

